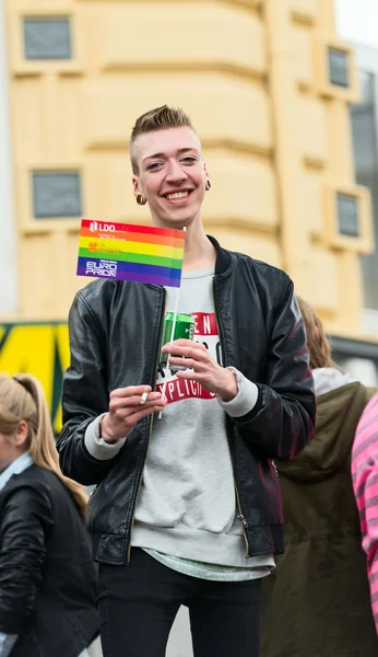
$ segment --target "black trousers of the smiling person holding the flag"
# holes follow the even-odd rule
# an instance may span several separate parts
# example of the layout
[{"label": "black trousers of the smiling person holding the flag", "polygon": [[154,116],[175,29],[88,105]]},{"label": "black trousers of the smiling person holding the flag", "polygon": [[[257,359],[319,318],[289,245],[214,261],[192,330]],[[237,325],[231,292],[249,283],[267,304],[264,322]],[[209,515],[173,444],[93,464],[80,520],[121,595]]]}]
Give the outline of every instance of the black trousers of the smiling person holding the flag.
[{"label": "black trousers of the smiling person holding the flag", "polygon": [[196,657],[259,656],[261,579],[189,577],[135,548],[129,566],[101,564],[98,586],[104,657],[164,657],[181,604]]}]

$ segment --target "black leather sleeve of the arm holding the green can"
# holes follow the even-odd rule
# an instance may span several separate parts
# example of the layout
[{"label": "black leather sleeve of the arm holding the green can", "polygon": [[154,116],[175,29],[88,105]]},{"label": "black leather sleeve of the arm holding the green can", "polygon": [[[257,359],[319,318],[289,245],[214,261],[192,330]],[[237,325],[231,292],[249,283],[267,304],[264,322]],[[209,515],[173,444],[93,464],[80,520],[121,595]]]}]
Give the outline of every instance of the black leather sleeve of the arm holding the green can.
[{"label": "black leather sleeve of the arm holding the green can", "polygon": [[270,337],[265,382],[257,385],[253,408],[232,422],[268,458],[295,459],[314,435],[316,397],[305,326],[291,279]]}]

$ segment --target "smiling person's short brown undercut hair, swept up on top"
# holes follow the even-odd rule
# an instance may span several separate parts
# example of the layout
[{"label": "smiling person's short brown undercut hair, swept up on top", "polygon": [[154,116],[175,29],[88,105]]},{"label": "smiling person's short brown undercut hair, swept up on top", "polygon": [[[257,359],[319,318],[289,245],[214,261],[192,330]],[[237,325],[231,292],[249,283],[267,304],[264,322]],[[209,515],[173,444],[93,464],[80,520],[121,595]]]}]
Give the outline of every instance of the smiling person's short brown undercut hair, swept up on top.
[{"label": "smiling person's short brown undercut hair, swept up on top", "polygon": [[[142,114],[137,118],[135,125],[132,128],[130,137],[130,160],[132,166],[132,173],[139,174],[138,162],[134,154],[133,145],[135,139],[140,135],[146,132],[156,132],[157,130],[167,130],[168,128],[182,128],[188,127],[196,132],[190,117],[180,107],[169,107],[168,105],[162,105],[162,107],[155,107]],[[197,135],[197,132],[196,132]]]}]

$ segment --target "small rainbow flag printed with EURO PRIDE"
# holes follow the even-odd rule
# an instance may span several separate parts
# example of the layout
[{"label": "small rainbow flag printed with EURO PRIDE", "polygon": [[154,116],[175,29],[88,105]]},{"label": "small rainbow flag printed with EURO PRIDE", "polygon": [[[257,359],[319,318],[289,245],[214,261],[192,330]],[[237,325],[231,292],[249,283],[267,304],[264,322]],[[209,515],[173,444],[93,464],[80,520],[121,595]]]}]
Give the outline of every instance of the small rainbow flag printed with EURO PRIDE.
[{"label": "small rainbow flag printed with EURO PRIDE", "polygon": [[185,231],[82,219],[78,276],[180,287]]}]

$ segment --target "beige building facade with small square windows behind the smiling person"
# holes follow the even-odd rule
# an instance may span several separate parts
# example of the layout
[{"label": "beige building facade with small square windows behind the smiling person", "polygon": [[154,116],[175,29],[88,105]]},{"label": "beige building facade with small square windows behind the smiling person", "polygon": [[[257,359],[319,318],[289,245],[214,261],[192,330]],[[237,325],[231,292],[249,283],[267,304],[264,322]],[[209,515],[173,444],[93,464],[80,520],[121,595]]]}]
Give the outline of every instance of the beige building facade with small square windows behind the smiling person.
[{"label": "beige building facade with small square windows behind the smiling person", "polygon": [[[51,330],[46,368],[67,367],[61,332],[87,283],[75,275],[80,218],[149,221],[132,194],[128,138],[137,116],[164,103],[190,113],[202,138],[213,183],[206,230],[284,268],[331,335],[375,345],[361,268],[374,250],[373,215],[355,183],[350,126],[362,96],[333,9],[332,0],[2,0],[12,234],[0,260],[13,255],[16,285],[13,304],[0,308],[0,370],[21,367],[31,344],[42,348],[40,322]],[[37,342],[22,325],[11,348],[7,322],[39,323]]]}]

